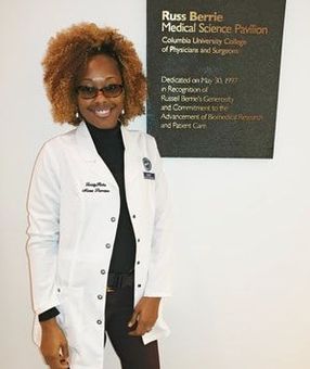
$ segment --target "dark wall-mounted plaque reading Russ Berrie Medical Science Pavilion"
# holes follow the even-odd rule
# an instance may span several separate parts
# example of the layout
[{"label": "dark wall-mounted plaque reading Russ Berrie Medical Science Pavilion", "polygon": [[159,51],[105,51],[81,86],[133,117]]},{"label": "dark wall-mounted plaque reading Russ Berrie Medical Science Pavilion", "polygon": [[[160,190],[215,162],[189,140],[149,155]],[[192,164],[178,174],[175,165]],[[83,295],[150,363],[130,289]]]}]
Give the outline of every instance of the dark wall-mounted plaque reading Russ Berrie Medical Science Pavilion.
[{"label": "dark wall-mounted plaque reading Russ Berrie Medical Science Pavilion", "polygon": [[147,1],[147,131],[163,156],[273,156],[284,11]]}]

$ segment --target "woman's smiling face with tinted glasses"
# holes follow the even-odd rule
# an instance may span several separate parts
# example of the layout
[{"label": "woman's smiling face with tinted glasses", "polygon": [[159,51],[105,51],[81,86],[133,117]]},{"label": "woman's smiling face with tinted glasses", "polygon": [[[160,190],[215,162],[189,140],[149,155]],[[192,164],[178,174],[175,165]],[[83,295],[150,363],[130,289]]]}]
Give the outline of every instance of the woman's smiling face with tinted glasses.
[{"label": "woman's smiling face with tinted glasses", "polygon": [[[114,128],[124,106],[124,91],[121,75],[117,62],[107,55],[92,56],[78,80],[77,103],[80,115],[98,128]],[[89,98],[89,91],[98,91],[96,96]],[[111,93],[111,91],[114,91]],[[119,93],[117,97],[109,97]],[[87,97],[87,98],[86,98]]]}]

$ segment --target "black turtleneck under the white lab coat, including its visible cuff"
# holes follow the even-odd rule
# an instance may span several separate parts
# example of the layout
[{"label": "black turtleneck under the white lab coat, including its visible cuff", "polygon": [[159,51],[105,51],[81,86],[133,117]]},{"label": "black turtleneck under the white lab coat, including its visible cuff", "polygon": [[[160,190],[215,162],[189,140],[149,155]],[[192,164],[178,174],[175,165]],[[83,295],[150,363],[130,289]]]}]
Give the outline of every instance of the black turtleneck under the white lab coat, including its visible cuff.
[{"label": "black turtleneck under the white lab coat, including its visible cuff", "polygon": [[[129,272],[133,270],[135,257],[135,238],[126,201],[124,179],[124,142],[120,126],[112,129],[100,129],[87,123],[90,136],[99,155],[112,171],[120,195],[120,213],[114,242],[109,272]],[[104,250],[103,250],[104,252]],[[56,307],[39,314],[39,321],[57,316]]]}]

